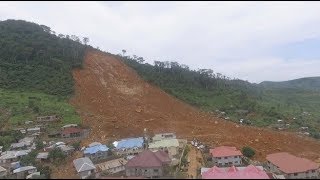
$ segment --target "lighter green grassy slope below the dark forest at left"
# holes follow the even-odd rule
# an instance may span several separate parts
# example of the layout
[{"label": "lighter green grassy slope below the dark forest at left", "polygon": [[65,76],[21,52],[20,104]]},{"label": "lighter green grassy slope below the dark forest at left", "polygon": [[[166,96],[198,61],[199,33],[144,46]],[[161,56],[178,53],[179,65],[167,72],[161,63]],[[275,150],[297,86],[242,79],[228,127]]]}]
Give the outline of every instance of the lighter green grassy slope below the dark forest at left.
[{"label": "lighter green grassy slope below the dark forest at left", "polygon": [[74,107],[68,104],[66,97],[0,89],[0,99],[1,123],[10,123],[12,127],[46,115],[62,117],[61,125],[81,122],[80,116]]}]

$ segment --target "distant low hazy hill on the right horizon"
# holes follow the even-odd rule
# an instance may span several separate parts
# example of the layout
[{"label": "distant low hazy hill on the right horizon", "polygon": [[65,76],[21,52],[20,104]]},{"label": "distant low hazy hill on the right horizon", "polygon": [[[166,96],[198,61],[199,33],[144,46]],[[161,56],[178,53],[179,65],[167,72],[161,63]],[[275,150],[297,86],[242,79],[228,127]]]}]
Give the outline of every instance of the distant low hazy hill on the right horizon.
[{"label": "distant low hazy hill on the right horizon", "polygon": [[305,77],[300,79],[294,79],[282,82],[264,81],[259,84],[264,88],[276,88],[276,89],[303,89],[303,90],[320,90],[320,77]]}]

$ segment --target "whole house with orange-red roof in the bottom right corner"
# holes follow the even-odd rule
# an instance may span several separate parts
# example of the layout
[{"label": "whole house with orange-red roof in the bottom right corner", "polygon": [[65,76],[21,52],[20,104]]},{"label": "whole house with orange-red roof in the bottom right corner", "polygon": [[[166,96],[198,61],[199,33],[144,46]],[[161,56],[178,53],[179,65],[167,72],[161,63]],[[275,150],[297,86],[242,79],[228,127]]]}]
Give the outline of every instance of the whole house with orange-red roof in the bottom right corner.
[{"label": "whole house with orange-red roof in the bottom right corner", "polygon": [[305,179],[319,176],[317,163],[287,152],[269,154],[266,159],[267,169],[276,174],[283,174],[286,179]]}]

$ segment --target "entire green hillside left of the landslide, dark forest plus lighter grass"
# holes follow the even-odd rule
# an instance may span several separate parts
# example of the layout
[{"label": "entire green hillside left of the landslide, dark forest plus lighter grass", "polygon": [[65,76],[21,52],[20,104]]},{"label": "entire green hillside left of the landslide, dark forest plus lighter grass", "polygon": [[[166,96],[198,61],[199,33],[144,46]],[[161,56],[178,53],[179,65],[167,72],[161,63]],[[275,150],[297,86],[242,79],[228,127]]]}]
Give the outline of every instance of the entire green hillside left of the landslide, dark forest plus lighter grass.
[{"label": "entire green hillside left of the landslide, dark forest plus lighter grass", "polygon": [[[68,104],[72,68],[81,67],[88,38],[56,34],[23,20],[0,21],[0,125],[24,126],[36,116],[56,114],[62,124],[79,123]],[[62,125],[61,124],[61,125]]]}]

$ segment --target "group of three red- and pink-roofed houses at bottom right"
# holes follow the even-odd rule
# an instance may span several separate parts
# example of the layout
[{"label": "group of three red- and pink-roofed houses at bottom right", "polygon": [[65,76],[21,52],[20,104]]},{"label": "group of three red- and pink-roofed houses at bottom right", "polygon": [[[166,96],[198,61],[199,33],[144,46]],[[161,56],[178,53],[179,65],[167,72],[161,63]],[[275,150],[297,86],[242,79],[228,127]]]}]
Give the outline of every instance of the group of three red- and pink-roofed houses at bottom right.
[{"label": "group of three red- and pink-roofed houses at bottom right", "polygon": [[214,166],[201,168],[202,179],[309,179],[319,178],[319,165],[287,152],[267,155],[264,166],[243,166],[243,155],[235,147],[210,149]]}]

